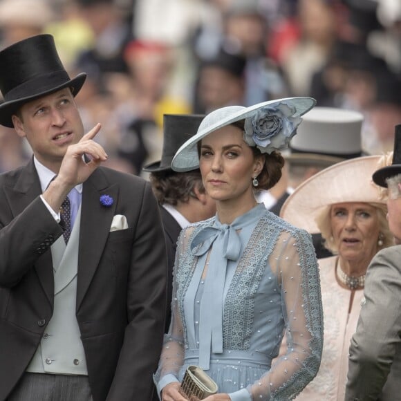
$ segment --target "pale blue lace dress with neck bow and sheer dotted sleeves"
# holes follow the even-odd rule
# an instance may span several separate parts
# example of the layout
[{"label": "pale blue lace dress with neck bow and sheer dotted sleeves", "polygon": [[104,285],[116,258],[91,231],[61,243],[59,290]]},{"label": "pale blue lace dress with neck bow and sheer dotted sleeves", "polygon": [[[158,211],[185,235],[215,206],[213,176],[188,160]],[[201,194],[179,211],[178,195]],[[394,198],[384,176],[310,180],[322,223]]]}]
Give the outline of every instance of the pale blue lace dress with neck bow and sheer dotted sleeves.
[{"label": "pale blue lace dress with neck bow and sheer dotted sleeves", "polygon": [[[201,366],[234,401],[291,400],[315,377],[323,320],[310,235],[257,205],[178,239],[172,320],[154,380]],[[288,352],[279,353],[284,330]]]}]

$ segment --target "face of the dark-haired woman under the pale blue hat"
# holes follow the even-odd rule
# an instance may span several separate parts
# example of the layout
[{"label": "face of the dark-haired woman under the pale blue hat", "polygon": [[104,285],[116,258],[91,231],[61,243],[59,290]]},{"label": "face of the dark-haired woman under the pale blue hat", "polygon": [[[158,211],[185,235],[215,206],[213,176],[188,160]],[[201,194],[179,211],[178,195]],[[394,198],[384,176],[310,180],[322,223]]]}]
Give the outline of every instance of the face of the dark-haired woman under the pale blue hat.
[{"label": "face of the dark-haired woman under the pale blue hat", "polygon": [[199,167],[209,196],[241,201],[252,194],[252,178],[261,172],[263,162],[254,158],[241,129],[228,125],[203,138]]}]

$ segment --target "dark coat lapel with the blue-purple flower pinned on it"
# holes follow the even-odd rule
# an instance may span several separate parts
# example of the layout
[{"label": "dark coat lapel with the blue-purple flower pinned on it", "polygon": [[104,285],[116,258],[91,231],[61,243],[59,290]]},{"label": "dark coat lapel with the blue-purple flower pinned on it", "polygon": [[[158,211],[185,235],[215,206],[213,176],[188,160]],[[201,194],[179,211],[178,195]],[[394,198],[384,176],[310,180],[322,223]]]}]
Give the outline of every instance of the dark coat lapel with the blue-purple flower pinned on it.
[{"label": "dark coat lapel with the blue-purple flower pinned on it", "polygon": [[[102,195],[111,196],[113,204],[109,207],[102,205],[100,203]],[[102,256],[117,203],[118,185],[110,185],[102,169],[95,170],[84,183],[82,192],[77,310],[80,308]]]}]

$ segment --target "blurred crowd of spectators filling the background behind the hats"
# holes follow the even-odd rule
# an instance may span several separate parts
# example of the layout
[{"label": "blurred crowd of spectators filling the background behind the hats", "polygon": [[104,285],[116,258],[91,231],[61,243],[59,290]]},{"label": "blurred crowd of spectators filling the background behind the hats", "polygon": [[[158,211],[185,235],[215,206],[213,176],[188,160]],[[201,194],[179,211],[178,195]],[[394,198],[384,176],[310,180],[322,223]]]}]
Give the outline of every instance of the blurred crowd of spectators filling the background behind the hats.
[{"label": "blurred crowd of spectators filling the background behind the hats", "polygon": [[[367,155],[401,122],[400,0],[0,0],[0,48],[43,32],[88,73],[85,129],[120,171],[160,158],[165,113],[312,96],[364,115]],[[0,127],[0,171],[28,158]]]}]

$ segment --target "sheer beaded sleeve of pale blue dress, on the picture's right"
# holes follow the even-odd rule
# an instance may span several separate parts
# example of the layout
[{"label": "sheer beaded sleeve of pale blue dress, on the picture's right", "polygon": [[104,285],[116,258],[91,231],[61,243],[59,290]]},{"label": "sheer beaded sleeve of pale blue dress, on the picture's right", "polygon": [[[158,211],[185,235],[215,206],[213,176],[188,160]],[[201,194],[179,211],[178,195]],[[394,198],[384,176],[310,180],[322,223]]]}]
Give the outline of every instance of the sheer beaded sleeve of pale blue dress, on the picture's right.
[{"label": "sheer beaded sleeve of pale blue dress, on the picture's right", "polygon": [[292,400],[317,374],[323,345],[319,270],[309,234],[283,232],[269,263],[281,286],[287,351],[248,391],[252,400]]}]

